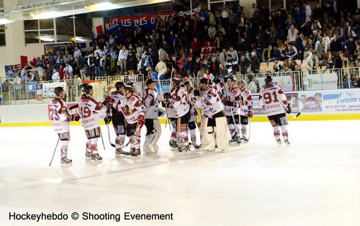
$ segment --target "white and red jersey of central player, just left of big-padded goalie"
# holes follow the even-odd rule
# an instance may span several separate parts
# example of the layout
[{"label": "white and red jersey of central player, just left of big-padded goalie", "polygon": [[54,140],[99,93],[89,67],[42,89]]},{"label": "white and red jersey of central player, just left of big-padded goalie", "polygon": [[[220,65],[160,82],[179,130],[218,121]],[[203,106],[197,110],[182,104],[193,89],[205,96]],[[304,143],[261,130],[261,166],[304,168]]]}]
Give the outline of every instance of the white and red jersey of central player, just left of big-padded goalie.
[{"label": "white and red jersey of central player, just left of big-padded goalie", "polygon": [[171,101],[170,104],[174,107],[175,118],[184,116],[190,110],[189,99],[188,99],[188,90],[186,87],[177,87],[171,91]]}]

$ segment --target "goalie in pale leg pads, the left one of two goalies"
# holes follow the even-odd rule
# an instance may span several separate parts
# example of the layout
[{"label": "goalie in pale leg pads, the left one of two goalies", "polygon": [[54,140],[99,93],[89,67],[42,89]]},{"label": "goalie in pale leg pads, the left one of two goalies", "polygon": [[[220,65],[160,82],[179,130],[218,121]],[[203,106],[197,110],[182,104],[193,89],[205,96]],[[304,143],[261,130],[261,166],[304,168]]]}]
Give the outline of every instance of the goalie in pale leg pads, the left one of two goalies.
[{"label": "goalie in pale leg pads, the left one of two goalies", "polygon": [[157,141],[159,141],[161,134],[161,125],[159,122],[159,116],[162,115],[162,112],[159,110],[159,101],[158,95],[156,94],[155,81],[149,79],[146,81],[147,89],[145,89],[143,94],[143,103],[146,108],[145,112],[145,143],[143,144],[143,150],[145,152],[157,153],[159,147],[157,146]]}]

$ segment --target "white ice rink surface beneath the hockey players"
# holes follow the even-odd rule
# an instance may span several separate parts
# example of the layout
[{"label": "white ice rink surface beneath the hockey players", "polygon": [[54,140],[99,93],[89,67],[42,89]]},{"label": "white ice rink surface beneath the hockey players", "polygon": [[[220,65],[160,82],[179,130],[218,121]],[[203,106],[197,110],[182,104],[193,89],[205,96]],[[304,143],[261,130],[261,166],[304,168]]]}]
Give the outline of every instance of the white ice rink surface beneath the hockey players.
[{"label": "white ice rink surface beneath the hockey players", "polygon": [[[71,127],[72,166],[60,166],[51,127],[0,128],[0,225],[360,225],[360,121],[291,121],[290,147],[270,123],[252,123],[249,144],[225,153],[169,150],[114,157],[102,127],[104,161],[84,159],[82,127]],[[114,132],[111,131],[114,138]],[[172,212],[172,221],[9,221],[9,211]]]}]

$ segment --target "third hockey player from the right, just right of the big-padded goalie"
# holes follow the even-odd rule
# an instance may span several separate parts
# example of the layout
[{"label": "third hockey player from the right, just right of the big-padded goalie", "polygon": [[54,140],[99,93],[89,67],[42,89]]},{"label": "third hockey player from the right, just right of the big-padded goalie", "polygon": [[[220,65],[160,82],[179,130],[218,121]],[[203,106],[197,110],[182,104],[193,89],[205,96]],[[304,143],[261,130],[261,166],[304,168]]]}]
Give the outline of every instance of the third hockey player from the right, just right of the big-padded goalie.
[{"label": "third hockey player from the right, just right of the big-padded goalie", "polygon": [[231,142],[241,143],[239,110],[242,105],[241,92],[236,85],[235,76],[229,76],[224,87],[224,110],[228,121]]}]

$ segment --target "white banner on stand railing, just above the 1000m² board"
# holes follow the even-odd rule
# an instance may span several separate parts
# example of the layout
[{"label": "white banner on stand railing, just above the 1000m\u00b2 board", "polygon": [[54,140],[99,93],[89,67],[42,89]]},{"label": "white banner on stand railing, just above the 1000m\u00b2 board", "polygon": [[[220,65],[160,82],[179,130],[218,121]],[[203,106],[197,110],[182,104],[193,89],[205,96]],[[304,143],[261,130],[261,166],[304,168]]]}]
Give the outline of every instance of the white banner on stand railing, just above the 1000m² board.
[{"label": "white banner on stand railing, just above the 1000m\u00b2 board", "polygon": [[315,73],[305,76],[307,90],[336,89],[336,73]]}]

